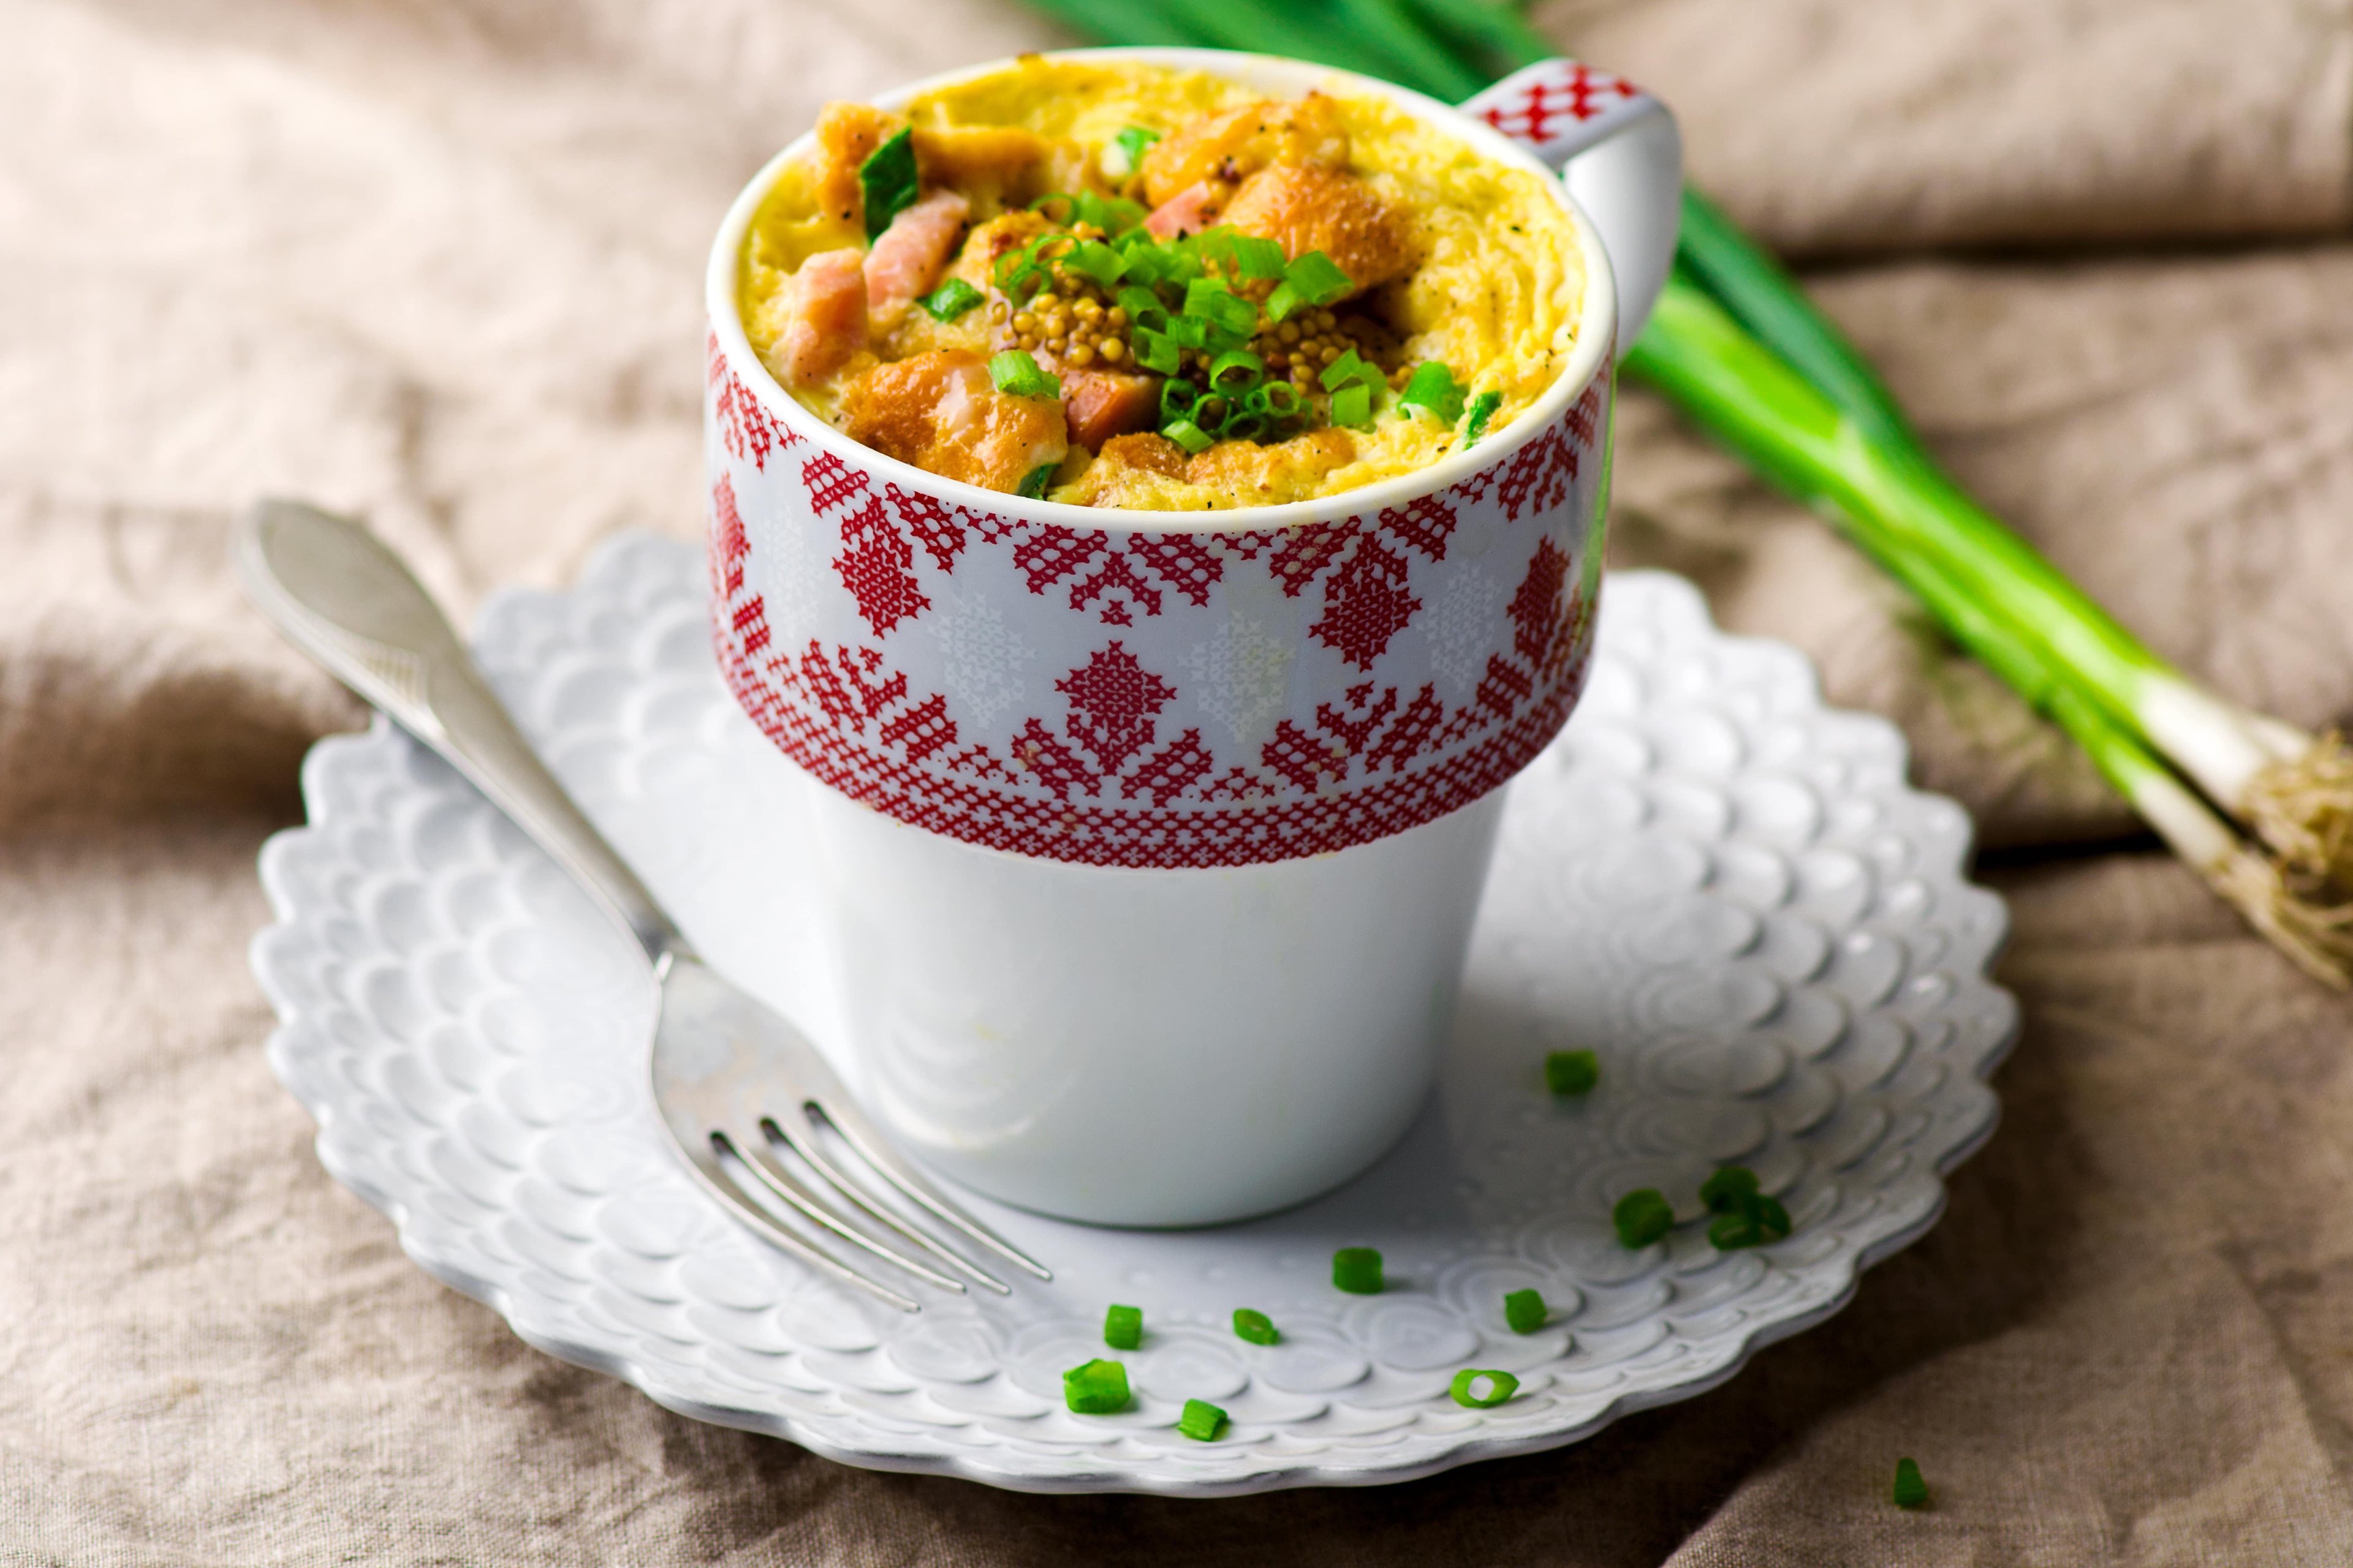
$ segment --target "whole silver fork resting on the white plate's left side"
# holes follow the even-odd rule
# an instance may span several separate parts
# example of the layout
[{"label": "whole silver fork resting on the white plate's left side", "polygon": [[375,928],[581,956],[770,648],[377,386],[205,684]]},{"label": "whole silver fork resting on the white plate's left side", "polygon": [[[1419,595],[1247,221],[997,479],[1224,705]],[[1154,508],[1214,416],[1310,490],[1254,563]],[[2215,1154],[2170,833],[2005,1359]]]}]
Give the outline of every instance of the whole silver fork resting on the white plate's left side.
[{"label": "whole silver fork resting on the white plate's left side", "polygon": [[[1052,1279],[901,1159],[800,1030],[694,957],[638,875],[539,762],[424,585],[374,534],[299,501],[261,501],[238,529],[235,555],[247,597],[294,646],[473,780],[645,950],[661,985],[654,1103],[687,1168],[739,1220],[826,1276],[904,1312],[920,1312],[915,1298],[819,1248],[784,1225],[769,1201],[944,1291],[965,1288],[946,1269],[1000,1295],[1012,1286],[918,1229],[915,1213]],[[845,1161],[842,1150],[856,1161]],[[859,1180],[852,1166],[880,1180]],[[892,1192],[911,1208],[901,1211]]]}]

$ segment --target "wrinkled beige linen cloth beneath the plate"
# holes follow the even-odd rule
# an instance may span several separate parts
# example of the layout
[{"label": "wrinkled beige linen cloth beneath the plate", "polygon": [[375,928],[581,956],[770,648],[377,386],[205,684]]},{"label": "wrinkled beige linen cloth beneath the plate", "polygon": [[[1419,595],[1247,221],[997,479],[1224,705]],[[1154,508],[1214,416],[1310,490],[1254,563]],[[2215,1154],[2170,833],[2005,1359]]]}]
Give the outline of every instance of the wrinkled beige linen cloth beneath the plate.
[{"label": "wrinkled beige linen cloth beneath the plate", "polygon": [[[1541,19],[1678,103],[2068,571],[2235,696],[2353,708],[2346,0]],[[1645,395],[1617,557],[1906,726],[2026,1016],[1946,1220],[1725,1389],[1377,1490],[878,1476],[522,1347],[320,1173],[245,945],[360,712],[240,607],[231,517],[362,512],[459,609],[694,534],[727,197],[824,96],[1047,42],[1005,0],[0,2],[0,1561],[2353,1563],[2353,1006]]]}]

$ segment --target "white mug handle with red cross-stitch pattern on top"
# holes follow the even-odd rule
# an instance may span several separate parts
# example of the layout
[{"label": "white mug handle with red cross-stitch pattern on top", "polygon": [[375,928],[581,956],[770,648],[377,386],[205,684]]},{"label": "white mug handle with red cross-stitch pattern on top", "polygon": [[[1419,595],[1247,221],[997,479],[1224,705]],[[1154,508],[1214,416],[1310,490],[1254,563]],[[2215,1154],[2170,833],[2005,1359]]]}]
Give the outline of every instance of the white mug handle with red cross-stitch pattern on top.
[{"label": "white mug handle with red cross-stitch pattern on top", "polygon": [[1485,120],[1560,169],[1593,219],[1619,292],[1619,357],[1642,334],[1675,263],[1682,219],[1682,132],[1666,103],[1621,75],[1574,59],[1513,71],[1466,99]]}]

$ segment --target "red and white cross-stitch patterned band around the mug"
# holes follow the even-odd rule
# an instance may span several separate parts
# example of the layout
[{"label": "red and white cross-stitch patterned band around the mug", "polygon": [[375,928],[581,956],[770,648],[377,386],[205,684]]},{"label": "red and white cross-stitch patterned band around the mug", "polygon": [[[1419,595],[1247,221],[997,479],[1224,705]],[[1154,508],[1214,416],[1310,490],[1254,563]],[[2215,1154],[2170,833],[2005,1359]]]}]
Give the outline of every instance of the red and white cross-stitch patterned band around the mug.
[{"label": "red and white cross-stitch patterned band around the mug", "polygon": [[762,447],[736,386],[715,360],[727,684],[929,832],[1096,865],[1346,849],[1499,788],[1584,684],[1607,369],[1461,484],[1287,529],[979,510],[781,423]]}]

